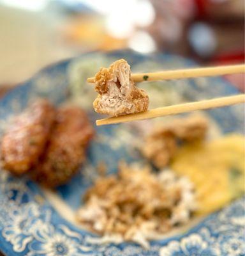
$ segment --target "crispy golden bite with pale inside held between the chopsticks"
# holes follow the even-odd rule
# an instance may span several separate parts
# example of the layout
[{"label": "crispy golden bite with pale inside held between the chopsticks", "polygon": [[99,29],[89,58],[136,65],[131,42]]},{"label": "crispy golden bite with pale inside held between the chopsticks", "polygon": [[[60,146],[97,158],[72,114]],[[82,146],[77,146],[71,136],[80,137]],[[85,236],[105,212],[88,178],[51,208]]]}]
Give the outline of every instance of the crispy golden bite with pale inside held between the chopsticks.
[{"label": "crispy golden bite with pale inside held between the chopsticks", "polygon": [[135,86],[126,60],[117,60],[109,68],[101,68],[95,83],[99,95],[94,100],[94,110],[98,113],[119,116],[148,109],[149,97]]}]

